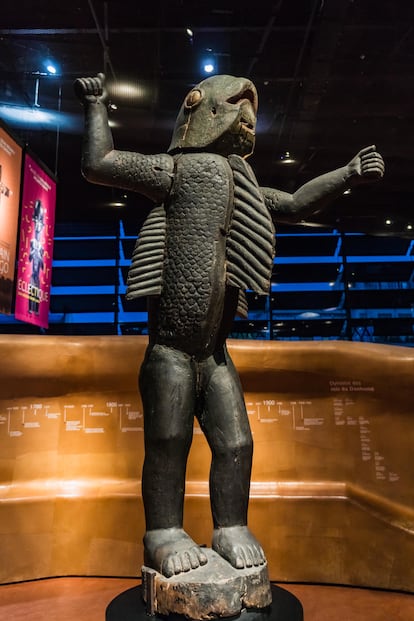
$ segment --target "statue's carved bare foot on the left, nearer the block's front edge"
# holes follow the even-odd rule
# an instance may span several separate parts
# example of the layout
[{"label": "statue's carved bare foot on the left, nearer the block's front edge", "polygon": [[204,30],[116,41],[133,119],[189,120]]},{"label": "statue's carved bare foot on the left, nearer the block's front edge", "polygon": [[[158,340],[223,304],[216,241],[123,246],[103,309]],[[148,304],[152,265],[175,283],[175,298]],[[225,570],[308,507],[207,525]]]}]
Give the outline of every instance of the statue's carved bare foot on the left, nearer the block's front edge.
[{"label": "statue's carved bare foot on the left, nearer the block's front edge", "polygon": [[207,557],[182,528],[160,528],[145,534],[144,562],[171,578],[205,565]]}]

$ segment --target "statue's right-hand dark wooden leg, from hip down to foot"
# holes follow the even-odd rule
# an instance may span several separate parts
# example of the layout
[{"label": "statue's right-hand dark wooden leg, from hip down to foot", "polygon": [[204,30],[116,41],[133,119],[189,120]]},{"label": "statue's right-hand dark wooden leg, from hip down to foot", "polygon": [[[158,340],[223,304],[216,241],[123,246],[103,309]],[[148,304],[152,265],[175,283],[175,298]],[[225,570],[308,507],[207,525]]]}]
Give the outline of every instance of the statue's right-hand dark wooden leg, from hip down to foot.
[{"label": "statue's right-hand dark wooden leg, from hip down to foot", "polygon": [[212,450],[213,549],[237,569],[262,565],[263,550],[247,527],[253,441],[243,390],[227,351],[204,369],[199,421]]}]

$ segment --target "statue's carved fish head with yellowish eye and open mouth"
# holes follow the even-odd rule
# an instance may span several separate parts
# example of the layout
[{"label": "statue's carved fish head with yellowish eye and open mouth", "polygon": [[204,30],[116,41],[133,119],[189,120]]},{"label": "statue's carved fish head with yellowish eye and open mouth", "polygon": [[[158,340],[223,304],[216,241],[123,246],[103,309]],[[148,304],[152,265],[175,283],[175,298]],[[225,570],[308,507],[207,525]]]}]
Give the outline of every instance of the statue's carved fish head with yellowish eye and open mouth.
[{"label": "statue's carved fish head with yellowish eye and open mouth", "polygon": [[184,99],[168,152],[197,149],[247,157],[254,149],[256,114],[257,91],[250,80],[207,78]]}]

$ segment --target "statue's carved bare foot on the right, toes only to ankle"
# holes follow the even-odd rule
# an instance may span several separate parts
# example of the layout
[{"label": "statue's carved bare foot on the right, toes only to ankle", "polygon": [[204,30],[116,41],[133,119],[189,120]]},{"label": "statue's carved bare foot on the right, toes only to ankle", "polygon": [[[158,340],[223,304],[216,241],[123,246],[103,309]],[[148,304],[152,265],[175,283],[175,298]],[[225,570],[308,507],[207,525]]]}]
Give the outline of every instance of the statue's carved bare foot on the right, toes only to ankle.
[{"label": "statue's carved bare foot on the right, toes only to ankle", "polygon": [[266,562],[260,543],[247,526],[214,529],[212,548],[236,569],[258,567]]}]

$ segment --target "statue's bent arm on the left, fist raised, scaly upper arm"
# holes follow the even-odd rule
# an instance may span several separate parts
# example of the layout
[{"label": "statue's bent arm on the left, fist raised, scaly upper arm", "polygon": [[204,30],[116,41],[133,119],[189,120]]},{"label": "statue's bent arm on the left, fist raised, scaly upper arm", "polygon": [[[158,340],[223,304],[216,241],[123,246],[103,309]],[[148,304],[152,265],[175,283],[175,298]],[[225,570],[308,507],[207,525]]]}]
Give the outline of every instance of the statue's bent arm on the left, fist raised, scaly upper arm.
[{"label": "statue's bent arm on the left, fist raised, scaly upper arm", "polygon": [[78,78],[75,94],[85,110],[82,173],[88,181],[144,194],[155,202],[167,196],[173,160],[167,154],[143,155],[114,149],[108,123],[108,91],[102,73]]}]

